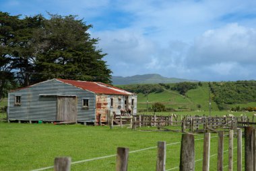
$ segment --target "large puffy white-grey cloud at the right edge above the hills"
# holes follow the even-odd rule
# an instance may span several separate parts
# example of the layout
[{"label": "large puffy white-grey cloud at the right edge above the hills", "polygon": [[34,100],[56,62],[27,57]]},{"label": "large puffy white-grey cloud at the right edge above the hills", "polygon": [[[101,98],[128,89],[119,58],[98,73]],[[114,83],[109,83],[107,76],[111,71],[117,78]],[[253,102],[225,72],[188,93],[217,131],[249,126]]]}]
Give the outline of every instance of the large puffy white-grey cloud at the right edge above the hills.
[{"label": "large puffy white-grey cloud at the right edge above the hills", "polygon": [[256,30],[231,23],[208,30],[195,39],[187,54],[186,66],[208,74],[211,80],[255,79]]}]

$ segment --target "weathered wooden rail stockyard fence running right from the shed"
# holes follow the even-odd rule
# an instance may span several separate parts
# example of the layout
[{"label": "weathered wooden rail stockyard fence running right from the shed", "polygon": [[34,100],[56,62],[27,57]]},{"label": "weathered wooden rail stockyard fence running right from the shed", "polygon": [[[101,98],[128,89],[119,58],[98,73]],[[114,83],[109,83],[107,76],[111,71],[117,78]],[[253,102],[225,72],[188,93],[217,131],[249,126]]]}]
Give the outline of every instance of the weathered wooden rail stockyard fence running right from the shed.
[{"label": "weathered wooden rail stockyard fence running right from the shed", "polygon": [[[254,115],[253,115],[254,116]],[[256,116],[256,115],[255,115]],[[253,117],[254,121],[254,117]],[[183,132],[201,132],[205,133],[208,131],[215,131],[216,129],[237,129],[238,127],[246,127],[249,125],[256,125],[254,122],[249,121],[249,117],[241,116],[189,116],[175,115],[171,114],[168,116],[158,116],[158,115],[130,115],[130,116],[109,116],[109,123],[111,128],[113,125],[128,125],[129,127],[136,129],[136,127],[164,127],[164,126],[177,126],[181,127],[178,130],[172,131],[183,131]],[[164,128],[166,129],[166,128]],[[167,129],[166,129],[167,130]],[[169,129],[170,130],[170,129]]]}]

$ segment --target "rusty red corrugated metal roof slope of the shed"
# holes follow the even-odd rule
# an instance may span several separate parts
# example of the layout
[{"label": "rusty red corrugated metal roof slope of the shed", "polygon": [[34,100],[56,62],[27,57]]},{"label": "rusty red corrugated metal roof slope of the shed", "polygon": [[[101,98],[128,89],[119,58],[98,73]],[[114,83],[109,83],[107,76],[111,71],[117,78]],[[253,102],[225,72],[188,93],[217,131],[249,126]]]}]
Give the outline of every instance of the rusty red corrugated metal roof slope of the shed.
[{"label": "rusty red corrugated metal roof slope of the shed", "polygon": [[66,84],[71,84],[75,87],[79,87],[81,89],[92,91],[96,94],[106,94],[106,95],[133,95],[128,91],[123,89],[119,89],[117,87],[113,87],[109,84],[104,84],[102,82],[90,82],[90,81],[83,81],[83,80],[65,80],[57,78],[61,82]]}]

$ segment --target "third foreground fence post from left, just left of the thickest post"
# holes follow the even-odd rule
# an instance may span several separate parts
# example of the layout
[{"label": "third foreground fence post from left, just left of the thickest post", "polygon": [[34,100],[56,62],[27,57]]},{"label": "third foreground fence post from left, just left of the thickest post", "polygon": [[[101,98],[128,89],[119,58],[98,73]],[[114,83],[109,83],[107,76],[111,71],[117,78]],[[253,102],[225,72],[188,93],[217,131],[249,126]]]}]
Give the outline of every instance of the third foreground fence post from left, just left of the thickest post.
[{"label": "third foreground fence post from left, just left of the thickest post", "polygon": [[166,142],[158,141],[158,158],[156,160],[156,171],[165,170],[166,161]]}]

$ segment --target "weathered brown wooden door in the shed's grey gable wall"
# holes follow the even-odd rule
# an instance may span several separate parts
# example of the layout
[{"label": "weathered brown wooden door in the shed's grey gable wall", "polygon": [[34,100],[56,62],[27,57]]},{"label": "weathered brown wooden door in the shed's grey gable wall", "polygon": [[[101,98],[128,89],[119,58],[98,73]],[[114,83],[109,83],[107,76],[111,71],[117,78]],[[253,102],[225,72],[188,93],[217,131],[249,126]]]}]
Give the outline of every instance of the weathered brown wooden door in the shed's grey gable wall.
[{"label": "weathered brown wooden door in the shed's grey gable wall", "polygon": [[77,119],[76,97],[57,98],[57,121],[76,121]]}]

